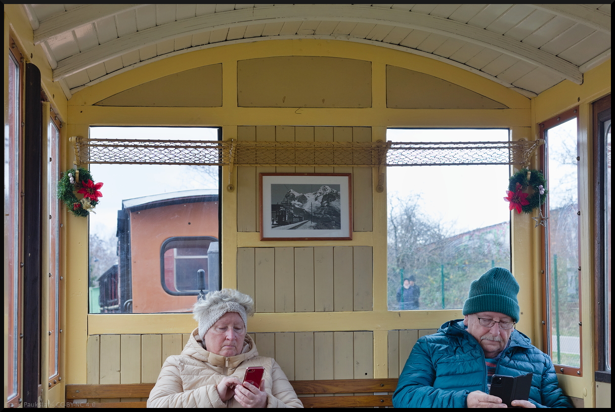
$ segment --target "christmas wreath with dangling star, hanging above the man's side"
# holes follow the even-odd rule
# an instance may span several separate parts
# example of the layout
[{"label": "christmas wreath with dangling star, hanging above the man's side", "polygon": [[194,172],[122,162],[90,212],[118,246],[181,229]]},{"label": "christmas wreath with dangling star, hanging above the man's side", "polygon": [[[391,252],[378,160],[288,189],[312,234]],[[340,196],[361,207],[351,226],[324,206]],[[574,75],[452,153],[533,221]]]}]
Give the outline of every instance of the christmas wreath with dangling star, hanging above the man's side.
[{"label": "christmas wreath with dangling star, hanging above the man's side", "polygon": [[[531,187],[531,192],[527,189]],[[510,203],[509,210],[516,209],[517,213],[532,213],[532,211],[544,204],[547,199],[547,180],[538,170],[522,168],[510,176],[507,197],[504,200]]]}]

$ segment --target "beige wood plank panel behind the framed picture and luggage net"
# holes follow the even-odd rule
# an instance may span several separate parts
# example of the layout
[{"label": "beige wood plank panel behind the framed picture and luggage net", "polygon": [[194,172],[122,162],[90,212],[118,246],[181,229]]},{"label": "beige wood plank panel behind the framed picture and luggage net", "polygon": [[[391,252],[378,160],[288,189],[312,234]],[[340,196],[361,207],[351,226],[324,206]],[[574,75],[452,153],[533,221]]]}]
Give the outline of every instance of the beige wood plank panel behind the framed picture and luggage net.
[{"label": "beige wood plank panel behind the framed picture and luggage net", "polygon": [[[237,140],[371,141],[370,127],[239,126]],[[331,153],[335,162],[335,153]],[[352,173],[352,220],[355,232],[372,230],[370,167],[238,167],[237,232],[260,231],[259,173]]]}]

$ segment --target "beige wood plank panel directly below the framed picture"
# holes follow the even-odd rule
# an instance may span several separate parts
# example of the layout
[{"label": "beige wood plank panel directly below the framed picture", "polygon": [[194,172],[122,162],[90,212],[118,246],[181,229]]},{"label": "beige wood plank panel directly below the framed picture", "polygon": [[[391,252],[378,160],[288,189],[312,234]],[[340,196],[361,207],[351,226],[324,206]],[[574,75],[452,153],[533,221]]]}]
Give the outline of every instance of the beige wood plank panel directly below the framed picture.
[{"label": "beige wood plank panel directly below the framed picture", "polygon": [[371,311],[372,266],[370,246],[237,248],[237,290],[256,312]]}]

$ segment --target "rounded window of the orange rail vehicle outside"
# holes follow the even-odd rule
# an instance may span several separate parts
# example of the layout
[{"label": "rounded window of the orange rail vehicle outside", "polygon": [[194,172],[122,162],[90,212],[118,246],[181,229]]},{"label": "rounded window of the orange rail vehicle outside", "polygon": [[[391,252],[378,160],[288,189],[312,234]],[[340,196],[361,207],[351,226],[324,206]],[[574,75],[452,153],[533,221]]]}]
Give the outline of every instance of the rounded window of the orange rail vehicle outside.
[{"label": "rounded window of the orange rail vehicle outside", "polygon": [[161,248],[161,283],[169,295],[218,290],[218,239],[172,237]]}]

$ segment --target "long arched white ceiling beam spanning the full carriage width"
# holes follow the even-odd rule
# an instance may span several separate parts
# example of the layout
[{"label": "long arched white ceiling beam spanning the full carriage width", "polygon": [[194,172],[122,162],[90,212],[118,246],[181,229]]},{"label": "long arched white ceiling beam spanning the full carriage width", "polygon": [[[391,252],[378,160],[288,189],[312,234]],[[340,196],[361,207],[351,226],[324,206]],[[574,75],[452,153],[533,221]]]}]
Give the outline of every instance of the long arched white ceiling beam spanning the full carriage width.
[{"label": "long arched white ceiling beam spanning the full carriage width", "polygon": [[[167,39],[219,28],[297,20],[363,22],[424,30],[498,50],[553,71],[576,84],[581,84],[583,80],[581,71],[573,63],[488,30],[426,14],[344,4],[282,4],[271,7],[230,10],[179,20],[138,31],[129,36],[122,36],[78,55],[65,58],[58,62],[58,67],[54,70],[54,79],[63,79],[103,61]],[[223,44],[223,42],[220,44]]]}]

